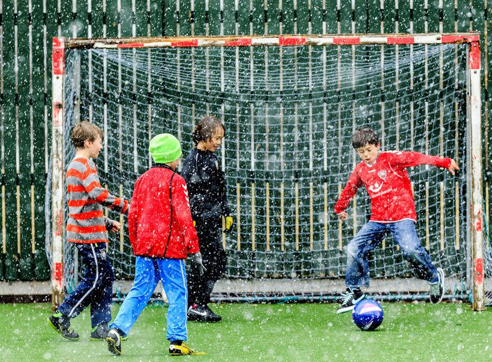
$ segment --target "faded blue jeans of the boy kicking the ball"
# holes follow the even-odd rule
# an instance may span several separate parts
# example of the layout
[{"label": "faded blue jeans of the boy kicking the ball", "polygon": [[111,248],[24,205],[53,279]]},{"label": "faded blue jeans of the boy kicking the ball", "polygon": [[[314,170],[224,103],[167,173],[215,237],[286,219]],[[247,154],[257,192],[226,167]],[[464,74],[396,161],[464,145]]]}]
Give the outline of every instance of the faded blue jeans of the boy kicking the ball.
[{"label": "faded blue jeans of the boy kicking the ball", "polygon": [[401,220],[394,223],[369,221],[347,245],[346,287],[369,286],[367,254],[381,243],[388,232],[391,232],[395,243],[400,246],[403,257],[413,266],[417,277],[429,282],[437,281],[437,270],[429,254],[420,245],[415,223],[412,220]]}]

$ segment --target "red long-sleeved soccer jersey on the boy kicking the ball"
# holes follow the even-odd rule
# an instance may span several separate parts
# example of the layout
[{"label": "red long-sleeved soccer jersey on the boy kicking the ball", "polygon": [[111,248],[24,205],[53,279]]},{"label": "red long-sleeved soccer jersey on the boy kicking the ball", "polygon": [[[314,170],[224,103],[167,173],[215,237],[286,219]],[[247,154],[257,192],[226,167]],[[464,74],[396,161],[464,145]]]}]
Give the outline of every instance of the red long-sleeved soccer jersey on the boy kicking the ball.
[{"label": "red long-sleeved soccer jersey on the boy kicking the ball", "polygon": [[375,163],[364,161],[355,166],[335,204],[335,212],[343,212],[362,185],[371,197],[371,221],[391,223],[403,219],[417,220],[409,174],[405,168],[435,165],[449,168],[451,159],[420,152],[381,152]]}]

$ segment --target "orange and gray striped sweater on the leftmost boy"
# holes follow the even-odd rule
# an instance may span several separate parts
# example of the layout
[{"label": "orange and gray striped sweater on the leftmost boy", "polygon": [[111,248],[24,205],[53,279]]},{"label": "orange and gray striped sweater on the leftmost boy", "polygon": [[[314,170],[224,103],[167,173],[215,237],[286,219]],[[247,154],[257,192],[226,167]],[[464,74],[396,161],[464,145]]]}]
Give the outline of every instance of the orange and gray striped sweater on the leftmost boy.
[{"label": "orange and gray striped sweater on the leftmost boy", "polygon": [[68,221],[67,240],[71,243],[107,243],[103,206],[124,214],[128,201],[115,197],[99,183],[94,161],[75,157],[66,173]]}]

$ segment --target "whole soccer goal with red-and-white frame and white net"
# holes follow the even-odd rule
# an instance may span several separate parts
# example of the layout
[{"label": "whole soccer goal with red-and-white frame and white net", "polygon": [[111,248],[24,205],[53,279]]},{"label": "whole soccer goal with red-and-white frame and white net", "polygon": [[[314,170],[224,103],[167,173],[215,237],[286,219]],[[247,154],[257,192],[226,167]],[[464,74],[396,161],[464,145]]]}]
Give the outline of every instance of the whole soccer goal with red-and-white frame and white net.
[{"label": "whole soccer goal with red-and-white frame and white net", "polygon": [[[358,162],[351,134],[369,126],[383,150],[451,157],[451,177],[409,169],[417,233],[446,273],[446,298],[483,310],[480,43],[476,33],[53,39],[52,172],[47,207],[53,303],[75,288],[77,255],[64,241],[69,131],[104,130],[96,161],[108,190],[129,199],[150,165],[148,141],[170,132],[193,148],[200,117],[226,125],[217,151],[235,210],[224,234],[228,267],[216,300],[330,300],[344,290],[345,248],[367,221],[359,192],[333,205]],[[110,217],[118,217],[110,215]],[[125,224],[124,217],[121,222]],[[118,280],[134,269],[126,225],[108,252]],[[391,237],[370,259],[380,299],[428,297]]]}]

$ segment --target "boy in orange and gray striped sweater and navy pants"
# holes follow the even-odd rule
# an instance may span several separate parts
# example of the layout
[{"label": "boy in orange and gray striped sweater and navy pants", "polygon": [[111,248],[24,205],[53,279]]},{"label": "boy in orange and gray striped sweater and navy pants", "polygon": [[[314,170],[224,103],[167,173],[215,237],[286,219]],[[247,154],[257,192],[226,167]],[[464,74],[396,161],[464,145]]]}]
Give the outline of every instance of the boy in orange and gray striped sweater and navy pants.
[{"label": "boy in orange and gray striped sweater and navy pants", "polygon": [[103,206],[124,214],[128,201],[110,194],[99,183],[93,158],[101,151],[101,128],[88,121],[77,123],[70,134],[77,153],[66,172],[68,221],[66,237],[74,243],[86,264],[81,283],[48,317],[50,325],[66,339],[79,334],[70,329],[70,319],[90,305],[90,339],[105,340],[111,320],[113,274],[106,254],[108,231],[117,232],[121,223],[104,217]]}]

